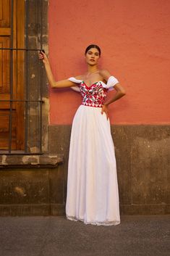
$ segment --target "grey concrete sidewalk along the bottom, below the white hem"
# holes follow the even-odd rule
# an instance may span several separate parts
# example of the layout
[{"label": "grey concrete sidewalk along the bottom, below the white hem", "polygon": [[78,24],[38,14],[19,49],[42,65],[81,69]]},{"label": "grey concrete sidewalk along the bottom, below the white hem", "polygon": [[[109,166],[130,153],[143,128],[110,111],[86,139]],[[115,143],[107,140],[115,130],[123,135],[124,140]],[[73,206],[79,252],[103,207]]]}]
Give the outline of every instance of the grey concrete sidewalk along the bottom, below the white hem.
[{"label": "grey concrete sidewalk along the bottom, below the white hem", "polygon": [[117,226],[64,217],[1,217],[1,256],[168,256],[170,215],[122,215]]}]

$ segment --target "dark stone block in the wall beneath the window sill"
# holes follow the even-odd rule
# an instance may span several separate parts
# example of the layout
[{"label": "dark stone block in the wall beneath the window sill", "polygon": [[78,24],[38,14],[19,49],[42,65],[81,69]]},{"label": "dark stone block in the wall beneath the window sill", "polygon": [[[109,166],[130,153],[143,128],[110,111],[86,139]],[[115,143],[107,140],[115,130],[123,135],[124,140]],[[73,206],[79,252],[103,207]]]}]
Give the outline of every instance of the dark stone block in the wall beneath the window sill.
[{"label": "dark stone block in the wall beneath the window sill", "polygon": [[47,170],[7,170],[0,177],[0,205],[49,202]]}]

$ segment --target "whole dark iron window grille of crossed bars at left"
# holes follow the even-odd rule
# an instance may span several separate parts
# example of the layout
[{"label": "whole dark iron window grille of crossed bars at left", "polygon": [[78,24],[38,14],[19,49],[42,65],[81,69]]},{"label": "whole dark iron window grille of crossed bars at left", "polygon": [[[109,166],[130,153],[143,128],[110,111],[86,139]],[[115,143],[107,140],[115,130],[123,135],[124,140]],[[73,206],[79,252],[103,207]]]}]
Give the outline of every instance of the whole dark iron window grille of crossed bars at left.
[{"label": "whole dark iron window grille of crossed bars at left", "polygon": [[[38,0],[41,1],[41,0]],[[13,47],[13,17],[14,17],[14,0],[11,0],[11,46],[9,48],[0,48],[1,51],[10,51],[10,99],[4,100],[0,99],[0,102],[9,102],[9,143],[8,143],[8,149],[0,149],[0,155],[1,154],[43,154],[42,151],[42,125],[43,125],[43,65],[40,62],[39,69],[40,69],[40,93],[38,96],[38,99],[29,99],[29,52],[30,51],[44,51],[43,50],[43,7],[42,4],[40,4],[40,48],[39,49],[31,49],[29,47],[29,38],[28,38],[28,24],[29,24],[29,0],[25,1],[25,48],[14,48]],[[14,51],[24,51],[25,52],[25,96],[24,100],[22,99],[13,99],[13,53]],[[14,150],[12,149],[12,103],[13,102],[23,102],[25,104],[25,141],[24,141],[24,150]],[[28,139],[27,139],[27,133],[28,133],[28,107],[31,102],[35,102],[38,104],[38,150],[37,152],[30,152],[28,147]]]}]

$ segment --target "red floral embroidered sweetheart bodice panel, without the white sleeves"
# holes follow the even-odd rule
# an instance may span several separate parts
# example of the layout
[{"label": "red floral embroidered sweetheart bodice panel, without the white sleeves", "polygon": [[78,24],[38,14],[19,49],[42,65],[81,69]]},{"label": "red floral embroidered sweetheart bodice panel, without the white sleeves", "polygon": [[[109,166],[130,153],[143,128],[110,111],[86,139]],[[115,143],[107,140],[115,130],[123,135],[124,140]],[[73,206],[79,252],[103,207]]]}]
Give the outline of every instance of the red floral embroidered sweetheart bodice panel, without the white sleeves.
[{"label": "red floral embroidered sweetheart bodice panel, without the white sleeves", "polygon": [[101,82],[94,83],[90,87],[85,82],[80,83],[80,93],[82,95],[82,105],[89,107],[102,107],[106,99],[108,89],[103,88]]}]

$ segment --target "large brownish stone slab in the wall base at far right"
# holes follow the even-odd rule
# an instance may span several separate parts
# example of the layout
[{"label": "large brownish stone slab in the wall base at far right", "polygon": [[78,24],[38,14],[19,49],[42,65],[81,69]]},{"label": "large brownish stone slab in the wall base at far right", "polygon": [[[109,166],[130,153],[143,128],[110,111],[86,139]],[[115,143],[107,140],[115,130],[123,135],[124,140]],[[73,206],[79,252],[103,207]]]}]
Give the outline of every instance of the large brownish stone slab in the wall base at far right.
[{"label": "large brownish stone slab in the wall base at far right", "polygon": [[156,126],[148,128],[147,131],[144,127],[137,130],[131,149],[132,203],[140,205],[168,203],[169,128]]}]

